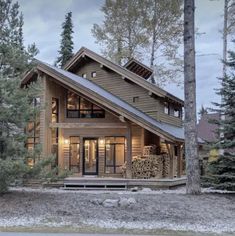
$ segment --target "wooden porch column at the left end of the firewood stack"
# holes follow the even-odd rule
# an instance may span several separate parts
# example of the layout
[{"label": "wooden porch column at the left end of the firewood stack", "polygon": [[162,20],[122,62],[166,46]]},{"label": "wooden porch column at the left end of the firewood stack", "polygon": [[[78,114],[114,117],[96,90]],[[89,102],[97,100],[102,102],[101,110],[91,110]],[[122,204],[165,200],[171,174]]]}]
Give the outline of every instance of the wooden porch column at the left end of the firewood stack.
[{"label": "wooden porch column at the left end of the firewood stack", "polygon": [[126,159],[126,178],[132,178],[132,134],[131,134],[131,124],[128,124],[127,127],[127,135],[126,135],[126,143],[127,143],[127,159]]}]

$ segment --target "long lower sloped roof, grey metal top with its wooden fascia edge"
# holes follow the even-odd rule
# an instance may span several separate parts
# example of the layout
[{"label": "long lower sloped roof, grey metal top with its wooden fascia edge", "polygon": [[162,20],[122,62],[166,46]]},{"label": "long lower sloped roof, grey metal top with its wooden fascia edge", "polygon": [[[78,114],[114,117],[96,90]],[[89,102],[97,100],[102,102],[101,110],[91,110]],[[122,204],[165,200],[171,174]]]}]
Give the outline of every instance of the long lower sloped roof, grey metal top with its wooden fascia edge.
[{"label": "long lower sloped roof, grey metal top with its wooden fascia edge", "polygon": [[[37,69],[59,80],[59,82],[64,83],[73,90],[77,89],[78,92],[84,92],[84,94],[88,95],[91,99],[100,104],[105,103],[105,107],[122,114],[125,118],[153,133],[158,134],[160,137],[176,141],[183,141],[184,139],[183,128],[156,121],[147,114],[121,100],[119,97],[104,90],[92,81],[43,62],[38,63]],[[27,84],[29,79],[30,78],[26,75],[22,84]]]}]

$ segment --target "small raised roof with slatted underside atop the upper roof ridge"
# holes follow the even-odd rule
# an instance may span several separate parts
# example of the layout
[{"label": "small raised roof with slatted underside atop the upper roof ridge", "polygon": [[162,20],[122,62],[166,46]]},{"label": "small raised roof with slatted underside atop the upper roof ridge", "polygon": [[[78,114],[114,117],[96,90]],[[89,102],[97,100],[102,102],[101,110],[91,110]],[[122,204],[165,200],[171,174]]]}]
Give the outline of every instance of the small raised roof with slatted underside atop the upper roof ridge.
[{"label": "small raised roof with slatted underside atop the upper roof ridge", "polygon": [[144,79],[148,79],[150,77],[150,75],[152,75],[153,70],[151,68],[149,68],[148,66],[144,65],[143,63],[141,63],[140,61],[137,61],[135,58],[131,58],[125,65],[124,67],[141,76]]}]

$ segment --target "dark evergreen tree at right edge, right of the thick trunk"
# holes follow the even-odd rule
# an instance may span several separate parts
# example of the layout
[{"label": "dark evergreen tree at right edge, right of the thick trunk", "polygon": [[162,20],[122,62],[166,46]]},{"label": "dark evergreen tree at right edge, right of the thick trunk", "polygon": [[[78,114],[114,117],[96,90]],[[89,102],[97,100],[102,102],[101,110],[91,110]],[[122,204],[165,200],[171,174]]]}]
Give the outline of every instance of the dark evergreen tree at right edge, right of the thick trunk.
[{"label": "dark evergreen tree at right edge, right of the thick trunk", "polygon": [[214,188],[235,190],[235,52],[229,52],[226,63],[230,73],[220,78],[221,88],[217,94],[221,96],[221,103],[213,103],[213,109],[224,116],[216,120],[220,140],[214,144],[218,150],[223,150],[218,159],[209,163],[207,180]]}]

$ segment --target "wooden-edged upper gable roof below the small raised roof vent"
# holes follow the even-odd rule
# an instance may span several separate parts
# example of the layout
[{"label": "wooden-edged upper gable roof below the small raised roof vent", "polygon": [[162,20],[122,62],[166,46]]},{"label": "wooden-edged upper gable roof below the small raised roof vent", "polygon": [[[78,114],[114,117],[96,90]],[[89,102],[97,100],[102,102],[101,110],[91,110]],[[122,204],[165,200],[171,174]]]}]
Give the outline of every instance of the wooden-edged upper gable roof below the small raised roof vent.
[{"label": "wooden-edged upper gable roof below the small raised roof vent", "polygon": [[143,79],[141,76],[133,73],[132,71],[126,69],[125,67],[122,67],[110,60],[107,60],[106,58],[100,56],[99,54],[89,50],[88,48],[82,47],[64,66],[65,70],[71,71],[73,67],[76,66],[79,59],[83,58],[84,56],[87,56],[94,61],[99,62],[101,65],[106,66],[107,68],[115,71],[116,73],[120,74],[124,78],[127,78],[131,80],[132,82],[138,84],[139,86],[145,88],[149,92],[152,92],[153,94],[156,94],[159,97],[167,97],[168,99],[171,99],[172,101],[178,102],[181,105],[184,105],[184,101],[180,98],[172,95],[171,93],[168,93],[164,89],[159,88],[156,85],[153,85],[149,81]]}]

